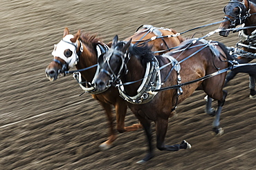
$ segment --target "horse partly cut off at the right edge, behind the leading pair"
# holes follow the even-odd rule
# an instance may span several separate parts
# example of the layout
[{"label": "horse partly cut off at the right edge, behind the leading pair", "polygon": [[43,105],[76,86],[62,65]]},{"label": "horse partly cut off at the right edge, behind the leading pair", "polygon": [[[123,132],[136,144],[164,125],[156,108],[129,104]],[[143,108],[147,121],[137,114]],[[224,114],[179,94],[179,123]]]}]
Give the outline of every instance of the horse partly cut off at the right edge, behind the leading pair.
[{"label": "horse partly cut off at the right edge, behind the leading pair", "polygon": [[[219,32],[221,36],[228,36],[230,30],[228,28],[235,28],[237,25],[244,24],[245,27],[256,25],[256,1],[253,0],[231,0],[228,5],[223,8],[225,17],[223,17],[223,23],[219,25],[219,29],[223,30]],[[256,30],[255,28],[248,28],[241,31],[241,44],[250,45],[250,47],[256,47]],[[255,53],[256,50],[253,48],[243,47],[246,52]],[[252,61],[252,58],[238,57],[239,63],[248,63]],[[254,66],[253,66],[254,67]],[[250,67],[248,67],[250,68]],[[226,83],[230,81],[238,72],[250,72],[246,70],[246,67],[241,67],[237,70],[232,70],[226,77]],[[255,81],[253,76],[250,74],[250,98],[256,98],[255,92]]]}]

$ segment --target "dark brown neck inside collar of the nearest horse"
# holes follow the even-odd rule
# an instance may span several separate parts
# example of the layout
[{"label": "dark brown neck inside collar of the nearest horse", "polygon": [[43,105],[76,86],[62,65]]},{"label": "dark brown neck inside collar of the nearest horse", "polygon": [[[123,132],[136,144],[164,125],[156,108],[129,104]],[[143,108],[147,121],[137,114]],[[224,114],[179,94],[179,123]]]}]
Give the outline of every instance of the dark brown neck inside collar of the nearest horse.
[{"label": "dark brown neck inside collar of the nearest horse", "polygon": [[[136,56],[131,55],[130,60],[127,63],[128,73],[121,75],[122,83],[138,81],[145,76],[145,67],[140,63]],[[132,83],[131,85],[125,85],[125,92],[130,96],[135,96],[137,94],[137,89],[142,81],[138,83]]]}]

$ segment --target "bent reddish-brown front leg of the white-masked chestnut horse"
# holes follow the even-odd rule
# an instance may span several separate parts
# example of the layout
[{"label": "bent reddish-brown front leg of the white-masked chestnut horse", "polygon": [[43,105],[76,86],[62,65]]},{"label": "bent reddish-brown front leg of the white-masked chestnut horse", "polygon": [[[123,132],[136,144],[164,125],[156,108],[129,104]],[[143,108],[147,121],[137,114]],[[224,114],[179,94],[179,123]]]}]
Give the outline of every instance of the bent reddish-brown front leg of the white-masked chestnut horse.
[{"label": "bent reddish-brown front leg of the white-masked chestnut horse", "polygon": [[142,125],[140,124],[134,124],[129,127],[125,127],[125,116],[127,113],[127,104],[125,100],[122,98],[118,99],[116,101],[116,129],[122,133],[122,132],[127,132],[127,131],[136,131],[138,129],[142,129]]}]

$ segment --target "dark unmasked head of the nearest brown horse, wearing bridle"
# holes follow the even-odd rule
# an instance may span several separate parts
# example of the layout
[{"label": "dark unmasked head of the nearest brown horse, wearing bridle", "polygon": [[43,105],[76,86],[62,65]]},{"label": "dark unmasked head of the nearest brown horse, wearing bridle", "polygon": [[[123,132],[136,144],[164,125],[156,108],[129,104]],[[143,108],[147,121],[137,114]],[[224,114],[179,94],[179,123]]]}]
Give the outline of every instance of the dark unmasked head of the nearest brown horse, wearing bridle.
[{"label": "dark unmasked head of the nearest brown horse, wearing bridle", "polygon": [[98,74],[95,85],[98,89],[104,90],[118,81],[121,72],[125,71],[127,63],[127,50],[131,45],[131,39],[125,42],[118,42],[118,36],[113,38],[111,48],[98,61],[101,70]]}]

